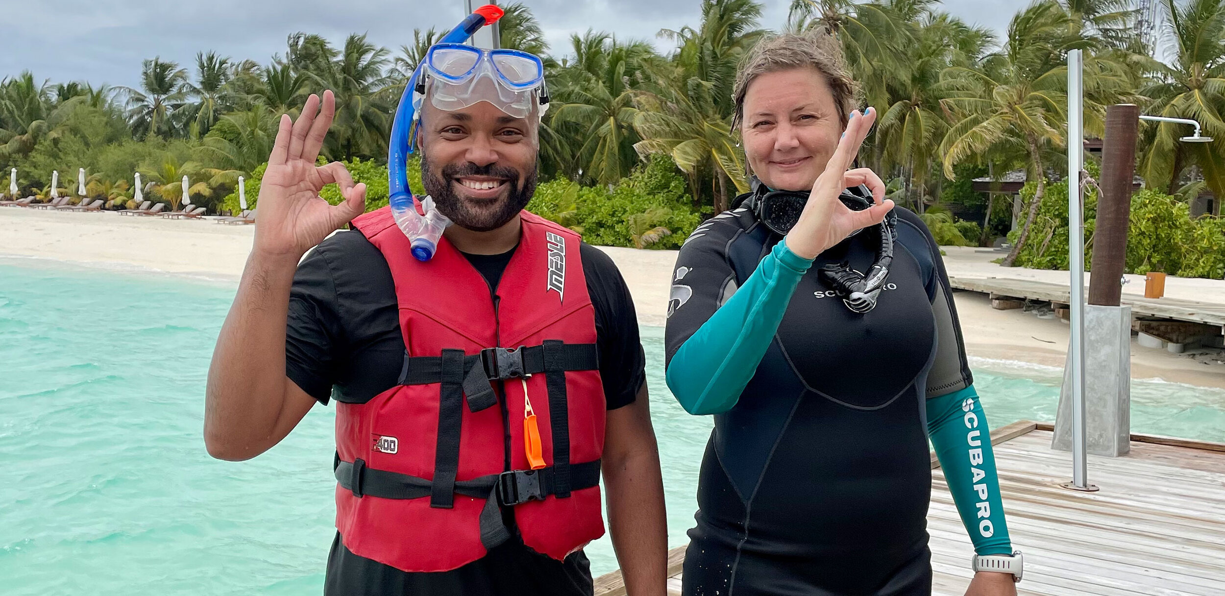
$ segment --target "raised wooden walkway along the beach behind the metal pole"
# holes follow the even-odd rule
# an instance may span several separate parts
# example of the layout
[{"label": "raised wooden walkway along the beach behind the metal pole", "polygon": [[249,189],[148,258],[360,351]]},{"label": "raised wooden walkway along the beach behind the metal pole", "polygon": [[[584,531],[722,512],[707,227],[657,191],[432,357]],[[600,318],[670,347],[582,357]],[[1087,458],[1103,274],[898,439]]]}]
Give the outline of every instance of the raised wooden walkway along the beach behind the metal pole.
[{"label": "raised wooden walkway along the beach behind the metal pole", "polygon": [[[1068,303],[1067,283],[1047,283],[1034,280],[1009,280],[1005,277],[949,277],[956,289],[980,292],[1000,297],[1014,297],[1030,300]],[[1088,296],[1088,286],[1085,286]],[[1136,294],[1123,294],[1122,304],[1132,307],[1132,316],[1167,319],[1186,323],[1212,325],[1225,330],[1225,304],[1182,300],[1175,298],[1144,298]]]}]

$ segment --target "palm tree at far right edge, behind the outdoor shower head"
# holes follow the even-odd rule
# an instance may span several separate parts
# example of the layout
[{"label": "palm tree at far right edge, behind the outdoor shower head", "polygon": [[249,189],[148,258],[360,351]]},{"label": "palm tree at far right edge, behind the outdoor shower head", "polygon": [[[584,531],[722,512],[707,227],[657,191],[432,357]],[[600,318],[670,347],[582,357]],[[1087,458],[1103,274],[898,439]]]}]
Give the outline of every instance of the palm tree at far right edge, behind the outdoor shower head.
[{"label": "palm tree at far right edge, behind the outdoor shower head", "polygon": [[[1175,194],[1186,169],[1198,166],[1213,194],[1225,197],[1225,0],[1161,0],[1169,18],[1161,43],[1172,64],[1145,63],[1153,74],[1139,94],[1144,113],[1199,120],[1210,143],[1183,143],[1185,125],[1150,126],[1140,147],[1140,172],[1153,188]],[[1220,201],[1216,201],[1218,204]]]}]

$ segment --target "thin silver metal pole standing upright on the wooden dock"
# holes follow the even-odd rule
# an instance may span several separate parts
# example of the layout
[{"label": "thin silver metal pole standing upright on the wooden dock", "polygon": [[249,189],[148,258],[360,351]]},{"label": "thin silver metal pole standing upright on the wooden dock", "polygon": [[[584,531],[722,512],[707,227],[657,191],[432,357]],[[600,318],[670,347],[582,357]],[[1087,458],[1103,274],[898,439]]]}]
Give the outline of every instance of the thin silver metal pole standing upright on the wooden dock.
[{"label": "thin silver metal pole standing upright on the wooden dock", "polygon": [[[1084,207],[1080,169],[1084,158],[1084,87],[1080,50],[1068,52],[1068,269],[1072,276],[1072,486],[1089,488],[1084,428]],[[1042,175],[1039,172],[1039,175]]]}]

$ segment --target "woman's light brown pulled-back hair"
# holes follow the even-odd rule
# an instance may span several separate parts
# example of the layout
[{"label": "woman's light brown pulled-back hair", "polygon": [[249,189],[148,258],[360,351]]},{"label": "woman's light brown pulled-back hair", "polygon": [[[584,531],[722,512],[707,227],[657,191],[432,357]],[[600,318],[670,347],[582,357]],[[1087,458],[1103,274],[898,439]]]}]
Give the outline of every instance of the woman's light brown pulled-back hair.
[{"label": "woman's light brown pulled-back hair", "polygon": [[839,110],[838,118],[843,128],[846,128],[850,110],[859,104],[860,86],[850,75],[838,38],[822,28],[815,28],[805,33],[764,37],[748,50],[740,61],[736,83],[733,87],[731,97],[735,101],[736,113],[733,117],[731,129],[739,129],[745,118],[745,93],[753,80],[767,72],[804,67],[815,69],[829,86],[834,105]]}]

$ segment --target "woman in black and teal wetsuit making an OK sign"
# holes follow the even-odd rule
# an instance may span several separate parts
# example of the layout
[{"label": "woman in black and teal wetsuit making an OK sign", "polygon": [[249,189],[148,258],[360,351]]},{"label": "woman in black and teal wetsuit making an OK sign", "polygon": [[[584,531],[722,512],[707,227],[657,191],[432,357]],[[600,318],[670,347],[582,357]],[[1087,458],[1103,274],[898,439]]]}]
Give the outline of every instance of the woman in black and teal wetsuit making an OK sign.
[{"label": "woman in black and teal wetsuit making an OK sign", "polygon": [[676,261],[668,384],[715,416],[690,596],[931,594],[929,437],[973,567],[992,569],[967,594],[1016,594],[1020,557],[940,249],[882,201],[875,173],[849,169],[876,120],[855,92],[832,38],[762,40],[735,86],[753,190]]}]

